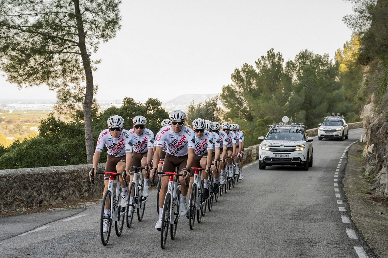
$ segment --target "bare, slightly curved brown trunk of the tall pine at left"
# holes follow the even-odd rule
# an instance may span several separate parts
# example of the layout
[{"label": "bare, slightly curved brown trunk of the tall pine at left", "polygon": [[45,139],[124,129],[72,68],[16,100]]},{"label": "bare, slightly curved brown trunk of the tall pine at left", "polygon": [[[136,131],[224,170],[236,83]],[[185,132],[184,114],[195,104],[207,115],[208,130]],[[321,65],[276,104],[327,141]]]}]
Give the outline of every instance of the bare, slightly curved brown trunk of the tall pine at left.
[{"label": "bare, slightly curved brown trunk of the tall pine at left", "polygon": [[89,54],[86,50],[85,45],[85,35],[86,32],[83,28],[83,21],[80,12],[79,0],[73,0],[75,16],[77,21],[78,28],[78,47],[80,48],[83,69],[85,70],[86,78],[86,93],[85,100],[83,102],[83,125],[85,130],[85,147],[87,155],[87,164],[92,164],[93,154],[94,154],[94,142],[93,142],[93,132],[92,132],[92,102],[94,94],[94,85],[93,85],[93,73],[92,67],[90,66]]}]

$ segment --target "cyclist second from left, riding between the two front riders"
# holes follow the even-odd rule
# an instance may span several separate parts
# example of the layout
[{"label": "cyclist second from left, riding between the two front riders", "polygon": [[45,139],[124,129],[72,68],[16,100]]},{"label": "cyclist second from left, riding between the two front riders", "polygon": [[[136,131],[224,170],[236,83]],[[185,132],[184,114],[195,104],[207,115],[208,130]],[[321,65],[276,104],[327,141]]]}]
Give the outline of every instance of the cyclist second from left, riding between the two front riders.
[{"label": "cyclist second from left, riding between the two front riders", "polygon": [[[145,119],[144,116],[135,116],[133,118],[133,128],[129,130],[133,142],[132,165],[142,166],[145,168],[145,170],[143,170],[143,197],[149,196],[147,171],[149,171],[151,166],[151,159],[154,148],[154,133],[151,130],[145,128],[146,124],[147,119]],[[132,182],[134,171],[134,168],[130,168],[130,182]],[[132,201],[133,198],[131,197],[129,203],[132,203]]]}]

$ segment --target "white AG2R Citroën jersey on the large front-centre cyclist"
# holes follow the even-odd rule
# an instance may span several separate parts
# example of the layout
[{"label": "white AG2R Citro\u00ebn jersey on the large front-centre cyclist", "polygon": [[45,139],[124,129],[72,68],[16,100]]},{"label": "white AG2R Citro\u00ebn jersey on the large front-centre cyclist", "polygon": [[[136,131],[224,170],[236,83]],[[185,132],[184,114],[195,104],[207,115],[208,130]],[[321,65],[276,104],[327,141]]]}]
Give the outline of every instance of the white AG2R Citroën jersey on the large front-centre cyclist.
[{"label": "white AG2R Citro\u00ebn jersey on the large front-centre cyclist", "polygon": [[187,155],[187,149],[194,149],[194,131],[185,125],[179,133],[175,133],[171,125],[165,126],[160,129],[156,139],[157,147],[163,147],[166,144],[166,152],[176,157]]}]

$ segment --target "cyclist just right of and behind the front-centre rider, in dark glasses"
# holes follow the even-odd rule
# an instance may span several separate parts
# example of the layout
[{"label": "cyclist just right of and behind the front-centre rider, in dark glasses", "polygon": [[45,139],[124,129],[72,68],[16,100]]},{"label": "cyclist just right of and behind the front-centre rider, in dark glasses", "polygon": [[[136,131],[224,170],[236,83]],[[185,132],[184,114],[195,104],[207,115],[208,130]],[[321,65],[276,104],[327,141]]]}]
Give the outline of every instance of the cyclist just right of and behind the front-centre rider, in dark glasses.
[{"label": "cyclist just right of and behind the front-centre rider, in dark glasses", "polygon": [[[195,149],[194,149],[194,162],[193,167],[196,168],[206,168],[202,172],[202,178],[204,181],[203,184],[203,199],[208,199],[209,197],[209,173],[211,173],[211,161],[212,152],[213,152],[213,134],[211,132],[205,131],[205,120],[202,118],[194,119],[193,130],[195,133]],[[189,184],[189,193],[191,193],[191,187],[194,182],[194,175],[190,178]],[[188,218],[188,213],[186,214]]]}]

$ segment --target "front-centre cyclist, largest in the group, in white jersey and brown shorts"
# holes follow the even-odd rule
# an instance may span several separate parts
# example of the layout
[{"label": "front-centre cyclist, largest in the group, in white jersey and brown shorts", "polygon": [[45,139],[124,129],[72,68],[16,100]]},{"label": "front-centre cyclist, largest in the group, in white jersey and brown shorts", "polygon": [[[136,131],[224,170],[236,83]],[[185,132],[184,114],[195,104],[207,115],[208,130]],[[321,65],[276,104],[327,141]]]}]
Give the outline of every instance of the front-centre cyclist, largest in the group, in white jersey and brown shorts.
[{"label": "front-centre cyclist, largest in the group, in white jersey and brown shorts", "polygon": [[[180,200],[179,200],[179,215],[185,216],[187,187],[185,180],[190,177],[190,168],[194,161],[194,142],[195,135],[193,130],[184,126],[186,114],[182,110],[175,109],[170,113],[171,126],[163,127],[156,135],[158,144],[154,154],[154,173],[159,163],[160,155],[163,150],[163,145],[166,144],[166,156],[163,162],[162,171],[175,171],[175,166],[178,165],[180,170],[184,170],[185,177],[179,177],[180,182]],[[151,174],[153,177],[153,173]],[[167,192],[168,176],[162,176],[162,184],[159,192],[159,220],[156,222],[155,228],[161,229],[163,203]]]}]

